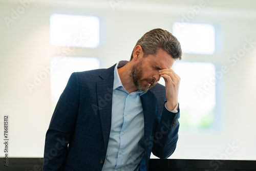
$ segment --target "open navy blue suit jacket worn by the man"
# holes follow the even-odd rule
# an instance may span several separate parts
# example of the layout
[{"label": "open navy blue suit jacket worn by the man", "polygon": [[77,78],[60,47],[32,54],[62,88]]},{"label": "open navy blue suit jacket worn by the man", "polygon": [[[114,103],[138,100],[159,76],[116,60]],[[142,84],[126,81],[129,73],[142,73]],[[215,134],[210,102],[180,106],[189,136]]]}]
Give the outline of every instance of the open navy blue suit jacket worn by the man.
[{"label": "open navy blue suit jacket worn by the man", "polygon": [[[45,171],[102,169],[111,130],[114,68],[71,75],[46,134]],[[167,158],[176,148],[179,112],[166,110],[165,101],[160,84],[141,96],[147,170],[151,152]]]}]

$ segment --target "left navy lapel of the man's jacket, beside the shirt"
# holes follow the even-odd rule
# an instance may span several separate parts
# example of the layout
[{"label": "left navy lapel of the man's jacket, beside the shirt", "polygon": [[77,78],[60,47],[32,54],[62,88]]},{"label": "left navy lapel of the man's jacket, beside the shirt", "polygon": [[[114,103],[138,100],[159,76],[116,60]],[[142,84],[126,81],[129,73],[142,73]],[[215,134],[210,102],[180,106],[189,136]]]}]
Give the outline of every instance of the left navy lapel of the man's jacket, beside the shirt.
[{"label": "left navy lapel of the man's jacket, beside the shirt", "polygon": [[115,65],[109,69],[104,70],[104,72],[99,75],[102,80],[98,81],[96,86],[98,109],[105,150],[108,147],[111,130],[114,69]]}]

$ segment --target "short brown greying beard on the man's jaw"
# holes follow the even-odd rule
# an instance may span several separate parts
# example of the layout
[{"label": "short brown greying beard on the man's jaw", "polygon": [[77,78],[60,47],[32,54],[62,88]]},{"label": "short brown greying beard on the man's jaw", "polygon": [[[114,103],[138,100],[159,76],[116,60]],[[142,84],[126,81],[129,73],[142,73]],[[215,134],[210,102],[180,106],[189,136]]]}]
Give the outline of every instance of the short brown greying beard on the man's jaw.
[{"label": "short brown greying beard on the man's jaw", "polygon": [[[141,63],[139,62],[138,65],[133,66],[132,72],[131,72],[131,78],[133,80],[134,86],[143,92],[146,92],[150,90],[152,87],[154,87],[157,84],[157,81],[155,79],[142,79],[143,77],[143,71],[141,68]],[[145,81],[152,82],[150,86],[144,85]]]}]

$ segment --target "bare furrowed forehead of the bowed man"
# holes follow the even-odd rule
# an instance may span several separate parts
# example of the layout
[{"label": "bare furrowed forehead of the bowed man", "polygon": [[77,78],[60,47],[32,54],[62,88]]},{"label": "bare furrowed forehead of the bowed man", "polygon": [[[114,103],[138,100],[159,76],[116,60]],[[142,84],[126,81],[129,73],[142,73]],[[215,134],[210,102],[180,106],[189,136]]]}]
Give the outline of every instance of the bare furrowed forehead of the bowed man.
[{"label": "bare furrowed forehead of the bowed man", "polygon": [[175,61],[175,59],[172,56],[170,56],[167,52],[165,52],[162,49],[159,49],[156,55],[148,55],[146,58],[150,60],[151,64],[154,67],[160,69],[172,68]]}]

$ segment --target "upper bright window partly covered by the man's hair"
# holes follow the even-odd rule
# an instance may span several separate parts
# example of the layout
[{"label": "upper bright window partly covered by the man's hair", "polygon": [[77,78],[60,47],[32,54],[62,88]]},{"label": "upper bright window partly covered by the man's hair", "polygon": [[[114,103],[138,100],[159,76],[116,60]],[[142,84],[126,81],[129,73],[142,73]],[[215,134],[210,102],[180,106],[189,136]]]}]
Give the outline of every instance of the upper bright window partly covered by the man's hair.
[{"label": "upper bright window partly covered by the man's hair", "polygon": [[180,41],[183,53],[213,54],[215,28],[210,24],[174,23],[173,34]]}]

